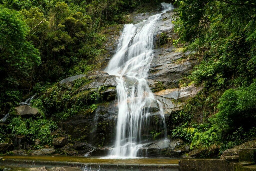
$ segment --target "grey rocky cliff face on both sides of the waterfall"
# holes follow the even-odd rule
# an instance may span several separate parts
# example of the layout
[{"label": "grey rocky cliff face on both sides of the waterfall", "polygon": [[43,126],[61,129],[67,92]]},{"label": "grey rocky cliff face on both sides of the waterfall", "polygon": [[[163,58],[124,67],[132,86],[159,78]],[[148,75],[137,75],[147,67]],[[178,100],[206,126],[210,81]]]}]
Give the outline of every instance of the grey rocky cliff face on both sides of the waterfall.
[{"label": "grey rocky cliff face on both sides of the waterfall", "polygon": [[[191,85],[184,88],[178,88],[178,82],[186,75],[188,75],[192,68],[198,63],[197,59],[189,59],[188,55],[191,52],[180,52],[171,42],[159,46],[158,35],[165,33],[170,39],[176,37],[173,32],[172,16],[174,12],[169,11],[163,14],[157,21],[157,30],[154,36],[154,57],[151,62],[150,71],[148,73],[148,84],[155,93],[156,100],[160,101],[164,107],[166,122],[169,120],[169,116],[173,111],[182,109],[182,106],[186,103],[186,100],[193,98],[202,89],[202,87],[196,87]],[[135,15],[135,14],[133,14]],[[136,22],[143,20],[151,14],[135,15],[134,20]],[[122,34],[122,25],[111,27],[107,31],[109,37],[105,44],[105,49],[108,51],[102,59],[101,66],[107,65],[108,61],[115,54],[118,39]],[[180,62],[181,61],[181,62]],[[87,78],[88,83],[80,87],[74,94],[74,97],[79,97],[88,94],[88,92],[95,92],[101,98],[98,102],[97,109],[85,114],[78,114],[66,122],[62,122],[60,127],[74,138],[82,138],[94,147],[111,147],[114,144],[115,137],[115,124],[118,114],[117,100],[116,100],[116,83],[115,76],[109,76],[108,73],[103,71],[95,71],[88,75],[79,75],[67,78],[60,81],[60,84],[72,85],[72,81],[76,79]],[[158,91],[157,87],[161,85],[161,90]],[[157,125],[160,117],[159,104],[157,102],[152,103],[149,115],[150,123],[149,127],[152,131],[161,132],[161,128]],[[150,132],[145,133],[143,136],[152,138]],[[155,139],[155,138],[154,138]],[[153,139],[152,139],[153,141]],[[164,147],[159,147],[156,144],[165,144]],[[165,156],[179,156],[183,152],[188,151],[183,147],[183,151],[176,150],[176,146],[169,149],[168,142],[158,141],[153,144],[148,144],[147,147],[143,147],[141,150],[141,156],[159,156],[162,149],[167,151]],[[166,147],[165,147],[166,146]],[[67,147],[63,147],[67,148]],[[91,148],[90,148],[91,149]],[[108,148],[94,149],[89,155],[100,156],[105,154]],[[150,154],[144,149],[150,149]],[[169,151],[174,151],[169,153]],[[84,151],[86,153],[87,151]]]}]

